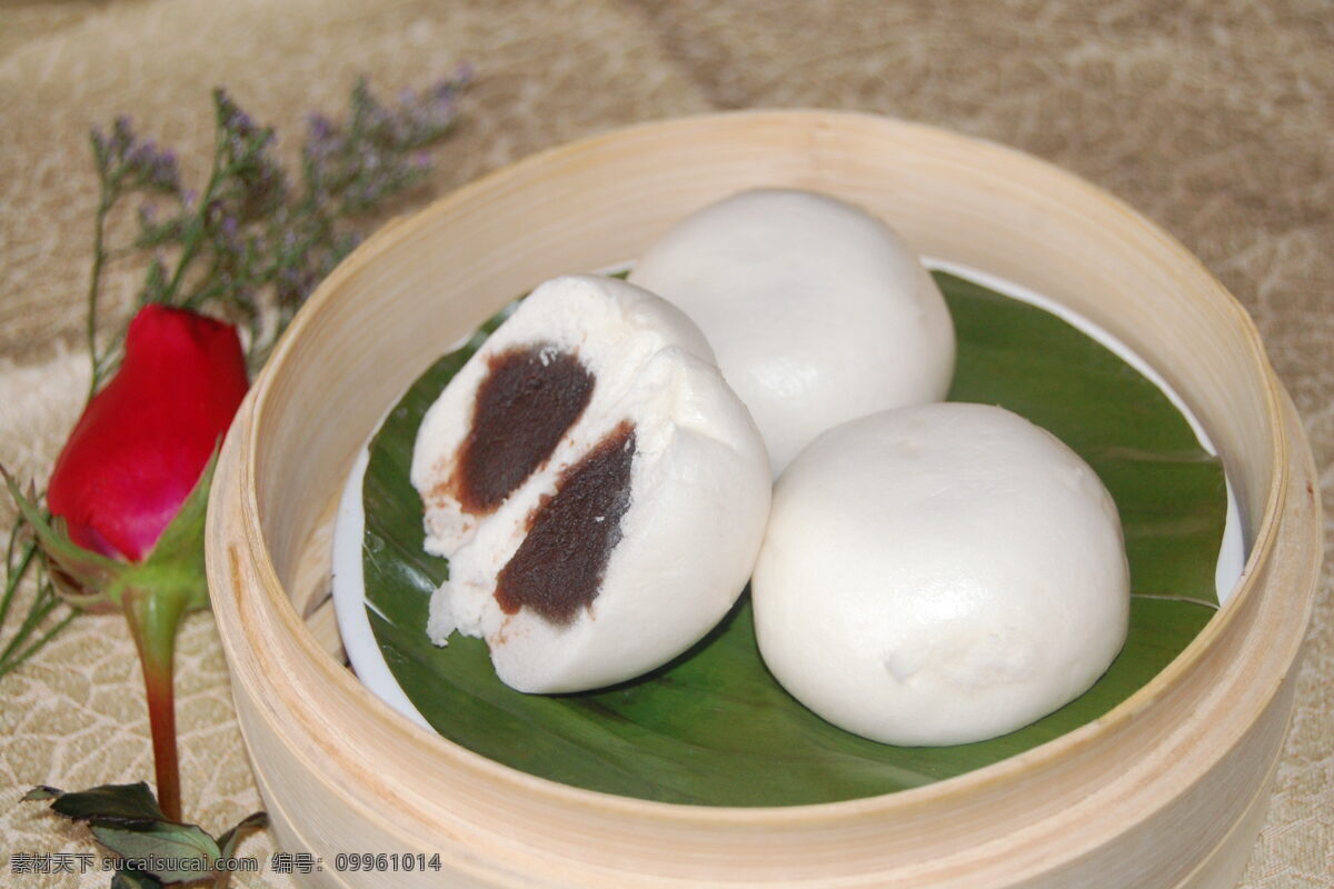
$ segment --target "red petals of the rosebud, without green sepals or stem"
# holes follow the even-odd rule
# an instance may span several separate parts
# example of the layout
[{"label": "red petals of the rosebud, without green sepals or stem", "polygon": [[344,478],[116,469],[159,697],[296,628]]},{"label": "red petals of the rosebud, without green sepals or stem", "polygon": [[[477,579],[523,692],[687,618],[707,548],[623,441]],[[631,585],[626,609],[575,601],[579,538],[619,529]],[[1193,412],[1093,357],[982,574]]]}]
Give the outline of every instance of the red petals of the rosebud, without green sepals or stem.
[{"label": "red petals of the rosebud, without green sepals or stem", "polygon": [[248,387],[236,329],[145,305],[125,355],[56,460],[47,490],[73,542],[143,560],[199,481]]}]

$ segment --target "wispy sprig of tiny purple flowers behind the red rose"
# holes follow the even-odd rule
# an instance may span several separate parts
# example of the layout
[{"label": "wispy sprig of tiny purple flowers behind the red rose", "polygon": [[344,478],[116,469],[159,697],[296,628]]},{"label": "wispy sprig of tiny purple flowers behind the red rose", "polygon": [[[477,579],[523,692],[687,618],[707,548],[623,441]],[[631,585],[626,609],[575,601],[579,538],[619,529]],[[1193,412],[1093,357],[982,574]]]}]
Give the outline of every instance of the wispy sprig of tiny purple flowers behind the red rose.
[{"label": "wispy sprig of tiny purple flowers behind the red rose", "polygon": [[[107,272],[119,263],[147,261],[139,307],[204,311],[240,324],[247,363],[256,371],[305,297],[360,243],[370,217],[430,175],[427,149],[455,127],[458,97],[471,76],[460,68],[426,91],[404,91],[395,101],[356,81],[342,119],[308,116],[295,175],[277,160],[273,128],[257,124],[217,89],[213,151],[201,188],[187,187],[177,153],[141,139],[129,117],[92,129],[99,193],[85,297],[87,399],[101,389],[124,353],[124,327],[109,335],[100,331]],[[121,215],[128,215],[135,235],[112,244],[113,229],[124,228],[113,225]],[[40,506],[43,492],[29,493]],[[77,613],[64,604],[31,532],[20,514],[4,548],[0,629],[17,618],[25,581],[35,594],[0,648],[0,677],[36,654]]]}]

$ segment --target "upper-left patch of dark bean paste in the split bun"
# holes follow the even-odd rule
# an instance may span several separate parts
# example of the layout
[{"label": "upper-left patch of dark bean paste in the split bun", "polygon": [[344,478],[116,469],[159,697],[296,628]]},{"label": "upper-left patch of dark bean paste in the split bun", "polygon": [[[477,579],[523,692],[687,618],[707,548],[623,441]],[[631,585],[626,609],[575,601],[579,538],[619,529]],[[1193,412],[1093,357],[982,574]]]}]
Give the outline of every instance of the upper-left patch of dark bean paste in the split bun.
[{"label": "upper-left patch of dark bean paste in the split bun", "polygon": [[454,474],[463,510],[484,514],[504,502],[556,449],[588,407],[592,387],[579,359],[552,345],[492,356]]}]

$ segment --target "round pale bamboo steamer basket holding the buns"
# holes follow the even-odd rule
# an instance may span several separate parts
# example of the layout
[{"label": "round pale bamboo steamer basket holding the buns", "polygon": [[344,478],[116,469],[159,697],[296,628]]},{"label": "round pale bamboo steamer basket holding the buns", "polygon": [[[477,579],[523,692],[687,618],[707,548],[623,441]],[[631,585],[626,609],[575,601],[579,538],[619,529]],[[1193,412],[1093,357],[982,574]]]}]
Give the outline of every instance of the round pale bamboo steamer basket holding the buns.
[{"label": "round pale bamboo steamer basket holding the buns", "polygon": [[[938,784],[787,808],[659,804],[486,760],[410,724],[339,657],[329,525],[399,395],[516,293],[636,256],[742,188],[827,192],[923,255],[1053,297],[1146,357],[1235,488],[1238,592],[1103,718]],[[820,111],[640,125],[494,173],[371,239],[256,381],[217,468],[208,576],[279,844],[315,886],[1234,885],[1259,830],[1319,570],[1314,468],[1258,333],[1177,241],[1082,180],[928,127]],[[775,776],[782,780],[782,776]],[[442,870],[339,872],[338,853]]]}]

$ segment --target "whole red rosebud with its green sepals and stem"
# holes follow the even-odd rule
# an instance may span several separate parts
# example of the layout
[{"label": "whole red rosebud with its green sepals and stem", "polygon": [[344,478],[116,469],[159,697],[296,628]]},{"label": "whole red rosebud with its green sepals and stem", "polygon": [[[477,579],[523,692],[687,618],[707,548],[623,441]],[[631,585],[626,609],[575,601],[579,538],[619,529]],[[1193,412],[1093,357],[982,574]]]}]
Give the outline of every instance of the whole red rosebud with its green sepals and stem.
[{"label": "whole red rosebud with its green sepals and stem", "polygon": [[57,589],[77,605],[125,614],[144,670],[159,804],[172,821],[180,820],[176,629],[208,605],[211,457],[247,387],[235,328],[145,305],[129,324],[120,369],[88,401],[56,460],[52,521],[5,473]]}]

